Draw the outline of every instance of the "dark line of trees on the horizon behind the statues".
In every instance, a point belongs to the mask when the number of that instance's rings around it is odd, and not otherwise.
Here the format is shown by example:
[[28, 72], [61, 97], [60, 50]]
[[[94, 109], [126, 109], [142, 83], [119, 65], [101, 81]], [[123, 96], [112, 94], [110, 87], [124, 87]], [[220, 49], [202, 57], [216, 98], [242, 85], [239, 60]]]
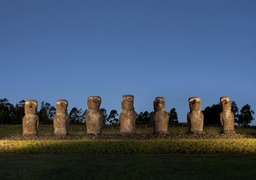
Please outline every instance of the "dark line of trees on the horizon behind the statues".
[[[231, 111], [235, 116], [235, 123], [243, 126], [247, 126], [254, 120], [252, 114], [254, 111], [250, 109], [250, 105], [244, 105], [239, 113], [239, 109], [234, 101], [231, 104]], [[38, 108], [39, 109], [39, 108]], [[109, 114], [105, 108], [100, 109], [104, 114], [104, 124], [119, 124], [119, 114], [116, 110], [111, 110]], [[211, 107], [207, 106], [202, 110], [204, 114], [204, 124], [220, 124], [220, 113], [222, 111], [221, 104], [213, 104]], [[69, 113], [70, 124], [85, 124], [85, 114], [88, 109], [83, 111], [73, 107]], [[152, 111], [153, 112], [153, 111]], [[150, 115], [152, 112], [140, 112], [137, 114], [136, 124], [150, 124]], [[169, 124], [178, 123], [178, 116], [175, 108], [172, 108], [169, 112]], [[39, 116], [40, 123], [53, 124], [53, 116], [56, 114], [56, 109], [51, 106], [50, 103], [41, 102], [40, 110], [36, 112]], [[1, 124], [22, 124], [22, 118], [25, 115], [25, 100], [21, 100], [19, 103], [9, 103], [7, 98], [0, 99], [0, 123]]]

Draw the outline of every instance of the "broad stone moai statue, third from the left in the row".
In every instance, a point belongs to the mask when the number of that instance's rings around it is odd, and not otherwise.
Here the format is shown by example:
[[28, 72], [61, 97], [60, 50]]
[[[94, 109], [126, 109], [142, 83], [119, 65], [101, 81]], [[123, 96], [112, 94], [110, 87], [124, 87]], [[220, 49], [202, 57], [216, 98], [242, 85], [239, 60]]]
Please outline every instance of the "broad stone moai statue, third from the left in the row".
[[101, 98], [90, 96], [87, 100], [89, 111], [85, 114], [87, 134], [101, 134], [104, 114], [100, 111]]

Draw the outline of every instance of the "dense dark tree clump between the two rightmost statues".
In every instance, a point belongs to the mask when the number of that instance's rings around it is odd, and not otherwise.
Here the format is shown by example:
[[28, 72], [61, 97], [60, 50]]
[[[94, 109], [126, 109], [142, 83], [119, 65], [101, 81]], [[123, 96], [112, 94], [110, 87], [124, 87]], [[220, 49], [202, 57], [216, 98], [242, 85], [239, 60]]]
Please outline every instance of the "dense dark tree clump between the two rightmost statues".
[[222, 111], [221, 104], [213, 104], [212, 107], [207, 106], [203, 110], [204, 124], [220, 124], [220, 113]]

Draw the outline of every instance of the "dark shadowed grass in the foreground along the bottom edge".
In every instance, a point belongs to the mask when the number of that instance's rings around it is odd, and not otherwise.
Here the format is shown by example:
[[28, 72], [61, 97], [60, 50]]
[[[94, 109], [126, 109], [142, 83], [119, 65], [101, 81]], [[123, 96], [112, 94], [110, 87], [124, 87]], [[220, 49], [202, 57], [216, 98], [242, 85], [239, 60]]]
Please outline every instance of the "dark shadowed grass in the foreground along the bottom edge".
[[255, 154], [0, 154], [0, 179], [255, 179]]

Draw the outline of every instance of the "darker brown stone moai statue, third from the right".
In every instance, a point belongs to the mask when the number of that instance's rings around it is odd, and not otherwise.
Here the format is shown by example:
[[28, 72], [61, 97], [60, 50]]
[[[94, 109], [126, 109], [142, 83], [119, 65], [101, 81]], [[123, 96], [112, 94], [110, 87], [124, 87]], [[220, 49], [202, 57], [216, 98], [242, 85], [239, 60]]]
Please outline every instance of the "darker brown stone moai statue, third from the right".
[[168, 134], [169, 114], [165, 111], [165, 101], [163, 97], [156, 97], [154, 101], [154, 112], [150, 115], [154, 134]]

